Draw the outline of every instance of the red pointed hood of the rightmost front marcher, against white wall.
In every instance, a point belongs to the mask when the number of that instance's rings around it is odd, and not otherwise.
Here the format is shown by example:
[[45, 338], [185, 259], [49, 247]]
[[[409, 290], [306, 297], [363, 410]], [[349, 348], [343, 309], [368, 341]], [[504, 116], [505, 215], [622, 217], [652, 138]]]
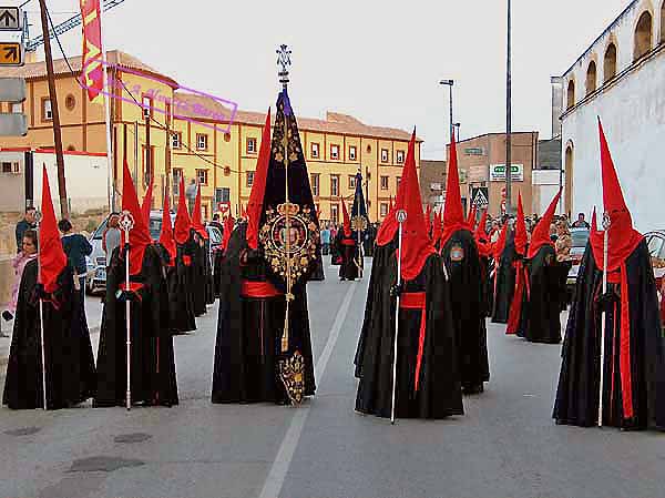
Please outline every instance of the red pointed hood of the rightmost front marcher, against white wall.
[[[612, 161], [610, 146], [605, 139], [603, 125], [598, 118], [598, 132], [601, 135], [601, 167], [603, 175], [603, 204], [605, 213], [610, 215], [610, 231], [607, 235], [607, 270], [613, 272], [635, 251], [637, 244], [644, 238], [633, 228], [633, 218], [624, 201], [621, 184], [616, 176], [616, 169]], [[591, 233], [593, 256], [601, 268], [603, 267], [604, 232]]]

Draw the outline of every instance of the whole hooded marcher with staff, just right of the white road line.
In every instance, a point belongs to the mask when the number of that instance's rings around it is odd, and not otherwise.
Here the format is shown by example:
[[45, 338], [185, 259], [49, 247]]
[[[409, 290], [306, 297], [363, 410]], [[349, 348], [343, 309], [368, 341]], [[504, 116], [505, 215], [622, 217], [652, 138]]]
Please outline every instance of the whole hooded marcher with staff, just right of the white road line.
[[[440, 256], [424, 230], [415, 162], [415, 134], [407, 153], [396, 207], [377, 237], [365, 322], [356, 352], [360, 379], [356, 410], [391, 417], [395, 319], [397, 339], [397, 418], [446, 418], [463, 414], [457, 369], [456, 332]], [[398, 210], [407, 212], [397, 286]]]

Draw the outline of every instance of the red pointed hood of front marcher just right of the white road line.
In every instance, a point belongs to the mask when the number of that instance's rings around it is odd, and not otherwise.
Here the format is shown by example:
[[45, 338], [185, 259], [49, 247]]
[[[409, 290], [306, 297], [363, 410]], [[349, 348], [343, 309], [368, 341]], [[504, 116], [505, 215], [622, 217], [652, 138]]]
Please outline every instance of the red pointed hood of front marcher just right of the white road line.
[[407, 212], [407, 221], [402, 224], [401, 277], [412, 281], [422, 271], [427, 258], [436, 252], [424, 228], [424, 214], [416, 171], [416, 130], [409, 142], [395, 209], [388, 213], [377, 236], [379, 246], [390, 243], [398, 234], [397, 212], [399, 210]]

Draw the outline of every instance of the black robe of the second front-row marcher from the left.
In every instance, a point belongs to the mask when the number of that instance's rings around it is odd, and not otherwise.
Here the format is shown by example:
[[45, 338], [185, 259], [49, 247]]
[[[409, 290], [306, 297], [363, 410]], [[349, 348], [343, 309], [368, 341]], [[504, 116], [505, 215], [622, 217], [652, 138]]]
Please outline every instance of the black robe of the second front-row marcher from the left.
[[[142, 284], [141, 301], [131, 302], [132, 404], [178, 404], [168, 292], [156, 246], [149, 245], [143, 266], [131, 282]], [[125, 281], [125, 257], [116, 248], [106, 275], [106, 301], [98, 353], [98, 394], [94, 407], [125, 406], [126, 326], [125, 303], [116, 292]]]

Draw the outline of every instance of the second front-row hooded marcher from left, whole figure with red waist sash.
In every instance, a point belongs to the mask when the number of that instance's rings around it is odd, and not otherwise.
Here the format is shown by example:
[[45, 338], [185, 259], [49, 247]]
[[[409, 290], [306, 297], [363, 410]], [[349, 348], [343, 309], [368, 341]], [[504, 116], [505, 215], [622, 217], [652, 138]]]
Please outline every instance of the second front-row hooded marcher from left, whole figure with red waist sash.
[[[129, 251], [113, 252], [106, 275], [106, 301], [98, 352], [98, 389], [93, 407], [125, 406], [127, 363], [131, 403], [144, 406], [178, 404], [168, 289], [162, 257], [139, 205], [132, 175], [124, 163], [122, 209], [134, 217]], [[182, 192], [182, 191], [181, 191]], [[126, 282], [129, 265], [130, 282]], [[129, 284], [129, 285], [127, 285]], [[130, 303], [127, 358], [126, 303]]]

